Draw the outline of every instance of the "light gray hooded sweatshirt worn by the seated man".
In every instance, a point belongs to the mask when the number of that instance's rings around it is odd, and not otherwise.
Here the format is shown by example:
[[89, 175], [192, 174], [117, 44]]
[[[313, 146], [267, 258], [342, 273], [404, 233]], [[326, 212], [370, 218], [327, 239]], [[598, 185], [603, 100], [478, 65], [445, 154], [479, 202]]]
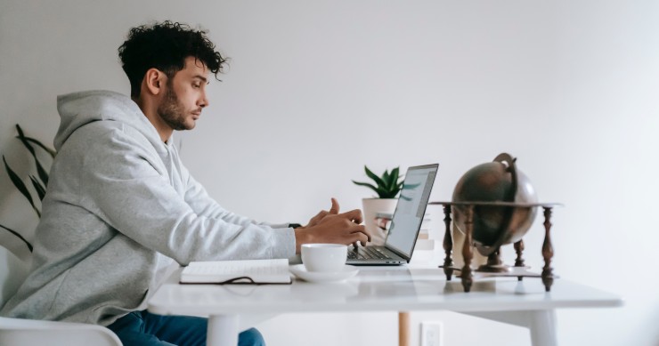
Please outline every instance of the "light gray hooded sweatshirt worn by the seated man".
[[119, 93], [58, 97], [61, 125], [28, 278], [1, 315], [108, 326], [191, 261], [290, 258], [293, 229], [224, 210]]

